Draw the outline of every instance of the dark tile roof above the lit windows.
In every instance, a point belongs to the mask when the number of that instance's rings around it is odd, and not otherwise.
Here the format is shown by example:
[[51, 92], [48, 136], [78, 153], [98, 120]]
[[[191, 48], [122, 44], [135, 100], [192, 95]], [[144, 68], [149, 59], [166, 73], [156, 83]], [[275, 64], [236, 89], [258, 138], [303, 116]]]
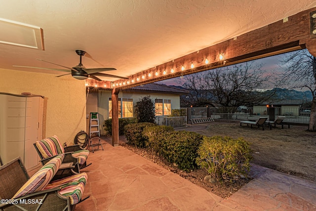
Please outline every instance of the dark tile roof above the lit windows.
[[189, 93], [186, 89], [176, 88], [173, 86], [168, 86], [164, 84], [144, 84], [142, 86], [135, 86], [128, 89], [125, 89], [124, 91], [145, 91], [145, 92], [168, 92], [173, 94], [187, 94]]

